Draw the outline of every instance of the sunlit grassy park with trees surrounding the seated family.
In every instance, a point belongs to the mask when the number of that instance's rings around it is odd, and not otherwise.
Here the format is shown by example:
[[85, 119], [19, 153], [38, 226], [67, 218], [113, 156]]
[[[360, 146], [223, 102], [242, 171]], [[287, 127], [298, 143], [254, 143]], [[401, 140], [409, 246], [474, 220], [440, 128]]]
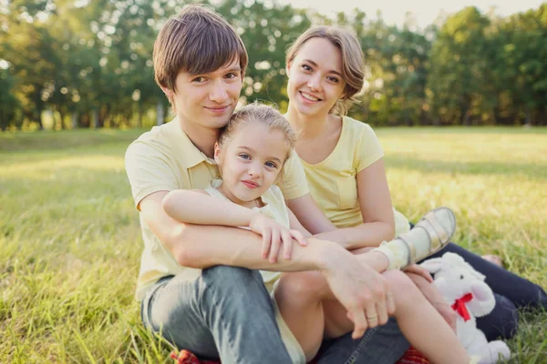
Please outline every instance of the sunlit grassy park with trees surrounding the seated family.
[[[151, 49], [183, 4], [0, 0], [1, 363], [170, 362], [133, 298], [142, 241], [123, 156], [170, 120]], [[213, 7], [249, 51], [242, 103], [282, 110], [286, 45], [311, 24], [352, 26], [367, 78], [351, 115], [375, 126], [397, 209], [416, 221], [452, 207], [454, 241], [547, 287], [547, 4], [465, 7], [428, 26]], [[545, 328], [547, 312], [521, 312], [509, 362], [547, 363]]]

